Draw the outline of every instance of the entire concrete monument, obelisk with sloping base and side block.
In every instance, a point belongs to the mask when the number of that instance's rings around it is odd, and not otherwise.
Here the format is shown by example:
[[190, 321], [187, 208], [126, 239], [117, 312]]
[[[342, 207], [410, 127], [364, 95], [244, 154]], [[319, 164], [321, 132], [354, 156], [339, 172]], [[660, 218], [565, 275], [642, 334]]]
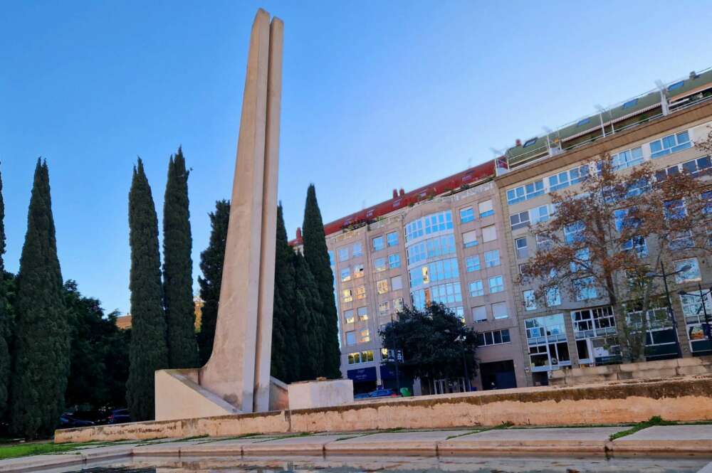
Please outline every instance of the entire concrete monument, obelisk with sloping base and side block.
[[199, 369], [156, 371], [156, 420], [353, 401], [350, 380], [270, 377], [284, 23], [252, 24], [213, 353]]

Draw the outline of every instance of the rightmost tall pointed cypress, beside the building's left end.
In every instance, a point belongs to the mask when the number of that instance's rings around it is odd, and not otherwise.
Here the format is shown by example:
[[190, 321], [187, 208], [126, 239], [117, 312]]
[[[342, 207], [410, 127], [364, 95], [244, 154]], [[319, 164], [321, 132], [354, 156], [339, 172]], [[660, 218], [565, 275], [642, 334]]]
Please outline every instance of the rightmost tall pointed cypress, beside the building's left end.
[[304, 258], [314, 276], [322, 303], [323, 327], [321, 330], [321, 343], [323, 346], [323, 368], [320, 376], [340, 378], [341, 356], [337, 325], [338, 316], [334, 299], [334, 275], [326, 248], [324, 223], [316, 200], [314, 184], [311, 184], [307, 190], [302, 235], [304, 238]]

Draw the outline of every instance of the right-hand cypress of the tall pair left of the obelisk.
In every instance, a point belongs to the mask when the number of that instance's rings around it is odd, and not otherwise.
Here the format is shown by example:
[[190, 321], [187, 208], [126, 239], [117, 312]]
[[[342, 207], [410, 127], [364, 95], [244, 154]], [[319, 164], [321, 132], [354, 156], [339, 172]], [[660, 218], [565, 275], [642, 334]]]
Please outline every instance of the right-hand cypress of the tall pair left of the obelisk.
[[168, 163], [163, 204], [163, 304], [171, 368], [195, 368], [199, 362], [190, 257], [193, 239], [188, 208], [188, 174], [183, 151], [178, 148]]

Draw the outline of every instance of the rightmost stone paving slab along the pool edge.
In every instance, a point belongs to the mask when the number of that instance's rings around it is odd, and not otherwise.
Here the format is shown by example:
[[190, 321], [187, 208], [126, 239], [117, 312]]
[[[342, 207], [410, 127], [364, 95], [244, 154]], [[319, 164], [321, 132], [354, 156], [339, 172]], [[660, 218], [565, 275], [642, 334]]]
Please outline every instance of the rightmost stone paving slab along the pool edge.
[[708, 453], [712, 425], [656, 425], [611, 442], [614, 452]]

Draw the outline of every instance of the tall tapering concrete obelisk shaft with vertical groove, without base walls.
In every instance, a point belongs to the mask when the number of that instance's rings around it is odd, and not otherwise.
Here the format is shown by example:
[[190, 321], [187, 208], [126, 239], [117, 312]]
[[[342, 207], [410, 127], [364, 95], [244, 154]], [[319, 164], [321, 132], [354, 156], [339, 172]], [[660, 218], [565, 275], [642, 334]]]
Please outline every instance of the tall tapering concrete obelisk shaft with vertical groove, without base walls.
[[283, 22], [252, 25], [213, 353], [199, 384], [244, 413], [269, 407]]

